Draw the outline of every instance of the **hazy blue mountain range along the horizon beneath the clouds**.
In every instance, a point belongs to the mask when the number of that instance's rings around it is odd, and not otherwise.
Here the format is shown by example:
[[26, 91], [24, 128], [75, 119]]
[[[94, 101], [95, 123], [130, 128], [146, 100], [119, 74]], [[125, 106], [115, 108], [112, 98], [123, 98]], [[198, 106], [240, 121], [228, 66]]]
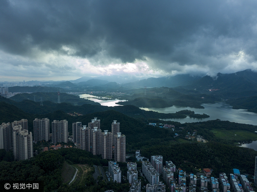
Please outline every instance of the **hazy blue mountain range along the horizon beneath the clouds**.
[[[102, 76], [104, 78], [106, 76]], [[111, 76], [108, 76], [111, 77]], [[120, 78], [120, 76], [115, 76]], [[80, 78], [82, 79], [82, 78]], [[79, 80], [79, 79], [78, 79]], [[76, 80], [75, 80], [76, 81]], [[252, 96], [257, 92], [257, 73], [252, 70], [238, 71], [231, 74], [222, 74], [217, 73], [215, 77], [211, 76], [191, 76], [186, 75], [176, 75], [176, 76], [167, 76], [167, 77], [158, 77], [158, 78], [147, 78], [136, 80], [134, 82], [128, 83], [117, 83], [116, 81], [108, 81], [101, 79], [89, 79], [87, 81], [82, 81], [75, 83], [75, 81], [64, 81], [64, 82], [53, 82], [45, 86], [49, 87], [59, 87], [69, 90], [79, 90], [83, 91], [88, 88], [94, 90], [108, 90], [112, 91], [122, 91], [136, 88], [144, 87], [170, 87], [186, 90], [197, 90], [202, 93], [210, 92], [210, 90], [218, 92], [252, 92], [249, 96]], [[10, 87], [10, 91], [15, 92], [14, 88]], [[42, 89], [37, 89], [37, 91], [42, 91]], [[17, 92], [19, 92], [17, 90]], [[32, 91], [34, 92], [34, 91]]]

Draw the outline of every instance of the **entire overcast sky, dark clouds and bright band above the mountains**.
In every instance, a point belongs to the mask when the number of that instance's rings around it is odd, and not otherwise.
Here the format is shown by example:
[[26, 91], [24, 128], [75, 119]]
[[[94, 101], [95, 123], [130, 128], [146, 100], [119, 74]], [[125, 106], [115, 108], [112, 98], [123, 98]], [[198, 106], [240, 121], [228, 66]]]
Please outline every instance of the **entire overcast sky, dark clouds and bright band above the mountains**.
[[257, 70], [257, 1], [0, 1], [0, 80]]

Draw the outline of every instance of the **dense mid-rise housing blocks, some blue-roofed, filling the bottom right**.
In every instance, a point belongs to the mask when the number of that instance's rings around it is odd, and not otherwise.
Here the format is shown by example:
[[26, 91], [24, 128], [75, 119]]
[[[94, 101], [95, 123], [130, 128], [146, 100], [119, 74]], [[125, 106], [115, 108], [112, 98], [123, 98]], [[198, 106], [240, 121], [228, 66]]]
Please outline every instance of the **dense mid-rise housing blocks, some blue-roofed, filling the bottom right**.
[[[139, 151], [136, 151], [136, 155], [139, 156], [139, 153]], [[220, 173], [219, 179], [214, 177], [207, 179], [207, 176], [211, 174], [211, 169], [205, 169], [204, 173], [206, 176], [201, 175], [199, 178], [194, 174], [186, 176], [186, 172], [178, 168], [178, 180], [176, 181], [176, 178], [174, 179], [176, 166], [171, 161], [166, 161], [165, 166], [162, 166], [162, 162], [161, 155], [151, 156], [151, 162], [142, 162], [142, 173], [149, 182], [146, 185], [146, 192], [165, 191], [165, 185], [159, 182], [160, 174], [162, 174], [162, 178], [171, 192], [196, 192], [196, 187], [199, 187], [201, 192], [208, 192], [208, 182], [210, 182], [212, 192], [253, 192], [248, 179], [245, 175], [240, 175], [238, 169], [233, 169], [234, 174], [230, 174], [230, 179], [228, 179], [225, 173]], [[189, 179], [189, 182], [187, 182], [188, 186], [186, 186], [186, 179]], [[200, 180], [200, 186], [197, 186], [197, 180]]]

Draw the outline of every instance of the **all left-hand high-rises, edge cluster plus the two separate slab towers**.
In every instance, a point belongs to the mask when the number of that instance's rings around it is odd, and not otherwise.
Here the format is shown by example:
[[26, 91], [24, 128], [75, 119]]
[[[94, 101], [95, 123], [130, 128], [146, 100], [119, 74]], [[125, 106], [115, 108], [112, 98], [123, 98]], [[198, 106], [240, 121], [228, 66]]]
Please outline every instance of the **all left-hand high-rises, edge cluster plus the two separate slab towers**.
[[[14, 159], [26, 160], [33, 157], [33, 142], [49, 141], [49, 119], [35, 119], [33, 121], [34, 135], [28, 131], [28, 120], [21, 119], [12, 123], [2, 123], [0, 126], [0, 148], [13, 150]], [[68, 121], [52, 122], [53, 142], [68, 141]], [[37, 151], [36, 151], [37, 154]]]

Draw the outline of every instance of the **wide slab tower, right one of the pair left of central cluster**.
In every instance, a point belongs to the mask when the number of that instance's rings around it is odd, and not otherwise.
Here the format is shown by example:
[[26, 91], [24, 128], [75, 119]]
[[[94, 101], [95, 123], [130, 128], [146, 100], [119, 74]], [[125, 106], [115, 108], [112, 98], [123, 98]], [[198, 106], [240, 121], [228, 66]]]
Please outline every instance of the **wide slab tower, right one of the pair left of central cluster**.
[[68, 121], [61, 120], [52, 122], [52, 140], [53, 143], [68, 143]]

